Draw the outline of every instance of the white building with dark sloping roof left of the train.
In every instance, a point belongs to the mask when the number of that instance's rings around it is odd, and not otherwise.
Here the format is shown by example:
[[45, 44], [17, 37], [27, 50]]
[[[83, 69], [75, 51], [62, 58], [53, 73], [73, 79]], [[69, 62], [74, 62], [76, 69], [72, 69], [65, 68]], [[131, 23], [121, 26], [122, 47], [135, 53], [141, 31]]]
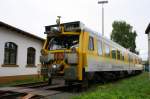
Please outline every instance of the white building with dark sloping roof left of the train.
[[37, 76], [44, 39], [0, 21], [0, 83]]

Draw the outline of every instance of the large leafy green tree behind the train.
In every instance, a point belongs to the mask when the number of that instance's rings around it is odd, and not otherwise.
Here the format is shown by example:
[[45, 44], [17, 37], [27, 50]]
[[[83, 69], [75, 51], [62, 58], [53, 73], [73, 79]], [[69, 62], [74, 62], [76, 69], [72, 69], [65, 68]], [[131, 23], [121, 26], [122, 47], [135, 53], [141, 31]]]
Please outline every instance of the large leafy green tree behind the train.
[[114, 21], [112, 27], [111, 40], [138, 54], [135, 43], [137, 33], [132, 31], [132, 26], [125, 21]]

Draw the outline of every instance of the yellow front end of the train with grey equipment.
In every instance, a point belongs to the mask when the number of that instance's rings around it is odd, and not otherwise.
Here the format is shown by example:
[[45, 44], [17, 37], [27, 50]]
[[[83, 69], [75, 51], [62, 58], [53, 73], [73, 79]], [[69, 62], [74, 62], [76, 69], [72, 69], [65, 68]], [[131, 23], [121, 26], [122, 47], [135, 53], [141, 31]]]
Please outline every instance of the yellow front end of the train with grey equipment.
[[83, 24], [80, 21], [45, 27], [47, 39], [41, 50], [42, 75], [50, 80], [82, 80]]

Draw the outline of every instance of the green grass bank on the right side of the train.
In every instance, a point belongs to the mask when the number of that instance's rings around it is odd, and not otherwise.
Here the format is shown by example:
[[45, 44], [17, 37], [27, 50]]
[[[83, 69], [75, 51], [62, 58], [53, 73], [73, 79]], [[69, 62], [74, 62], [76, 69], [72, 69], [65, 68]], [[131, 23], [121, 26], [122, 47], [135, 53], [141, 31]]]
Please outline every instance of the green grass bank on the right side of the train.
[[73, 99], [150, 99], [150, 74], [144, 72], [116, 82], [95, 85]]

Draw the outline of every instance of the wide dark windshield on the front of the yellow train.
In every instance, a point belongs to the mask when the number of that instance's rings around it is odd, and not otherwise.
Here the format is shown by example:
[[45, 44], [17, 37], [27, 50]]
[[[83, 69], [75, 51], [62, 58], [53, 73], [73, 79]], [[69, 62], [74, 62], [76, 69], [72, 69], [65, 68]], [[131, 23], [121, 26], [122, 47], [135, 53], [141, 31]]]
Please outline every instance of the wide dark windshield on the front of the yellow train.
[[63, 50], [79, 46], [79, 35], [54, 36], [48, 42], [48, 50]]

